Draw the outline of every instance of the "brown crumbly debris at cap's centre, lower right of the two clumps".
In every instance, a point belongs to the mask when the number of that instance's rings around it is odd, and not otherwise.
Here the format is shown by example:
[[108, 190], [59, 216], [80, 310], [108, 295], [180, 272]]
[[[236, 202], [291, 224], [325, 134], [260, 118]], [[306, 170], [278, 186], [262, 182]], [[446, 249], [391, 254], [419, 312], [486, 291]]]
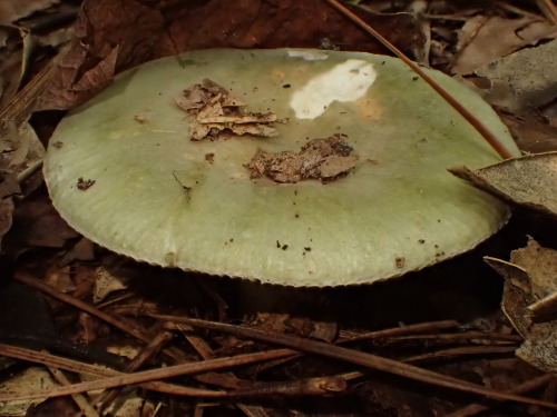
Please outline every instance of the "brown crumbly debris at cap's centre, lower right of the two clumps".
[[300, 152], [265, 152], [258, 149], [245, 167], [252, 178], [267, 177], [275, 182], [299, 182], [303, 179], [321, 179], [330, 182], [355, 166], [356, 156], [350, 156], [352, 147], [340, 135], [309, 141]]

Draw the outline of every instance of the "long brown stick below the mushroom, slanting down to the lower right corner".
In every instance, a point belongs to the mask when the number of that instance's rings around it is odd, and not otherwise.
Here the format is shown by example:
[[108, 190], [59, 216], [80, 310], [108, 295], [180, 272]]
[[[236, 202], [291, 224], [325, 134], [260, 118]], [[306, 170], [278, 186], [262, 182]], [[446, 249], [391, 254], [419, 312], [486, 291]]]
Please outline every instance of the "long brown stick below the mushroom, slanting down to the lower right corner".
[[263, 340], [271, 344], [277, 344], [290, 347], [295, 350], [301, 350], [310, 354], [316, 354], [334, 359], [340, 359], [343, 361], [398, 375], [404, 378], [414, 379], [431, 385], [437, 385], [444, 388], [452, 388], [465, 393], [479, 394], [499, 400], [534, 404], [543, 407], [557, 409], [557, 404], [555, 403], [541, 401], [538, 399], [499, 393], [466, 380], [452, 378], [442, 374], [433, 373], [431, 370], [418, 368], [416, 366], [403, 364], [393, 359], [388, 359], [358, 350], [346, 349], [340, 346], [328, 345], [321, 341], [307, 340], [301, 337], [267, 332], [247, 327], [225, 325], [221, 322], [193, 319], [186, 317], [172, 317], [172, 316], [158, 316], [158, 315], [149, 315], [149, 316], [158, 319], [164, 319], [167, 321], [183, 322], [195, 327], [224, 331], [233, 334], [235, 336]]

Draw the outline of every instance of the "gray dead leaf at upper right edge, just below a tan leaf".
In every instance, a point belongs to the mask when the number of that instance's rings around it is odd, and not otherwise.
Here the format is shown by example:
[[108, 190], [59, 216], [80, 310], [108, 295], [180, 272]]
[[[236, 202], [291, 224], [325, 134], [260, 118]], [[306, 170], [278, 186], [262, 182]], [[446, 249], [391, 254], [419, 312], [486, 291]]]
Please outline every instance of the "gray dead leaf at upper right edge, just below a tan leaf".
[[481, 66], [478, 76], [489, 80], [481, 95], [491, 105], [522, 115], [557, 97], [557, 39], [522, 49]]

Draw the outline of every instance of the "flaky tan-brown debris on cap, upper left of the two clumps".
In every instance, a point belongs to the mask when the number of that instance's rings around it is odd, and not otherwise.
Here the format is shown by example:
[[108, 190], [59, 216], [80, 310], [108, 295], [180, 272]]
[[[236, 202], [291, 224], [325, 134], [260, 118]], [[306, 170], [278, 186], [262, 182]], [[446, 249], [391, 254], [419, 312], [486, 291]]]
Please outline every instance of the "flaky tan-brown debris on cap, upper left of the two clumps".
[[237, 136], [276, 136], [277, 131], [270, 123], [282, 121], [273, 112], [245, 112], [242, 109], [247, 106], [245, 101], [209, 79], [184, 90], [184, 96], [174, 100], [186, 112], [196, 115], [192, 126], [192, 140], [218, 137], [225, 130]]

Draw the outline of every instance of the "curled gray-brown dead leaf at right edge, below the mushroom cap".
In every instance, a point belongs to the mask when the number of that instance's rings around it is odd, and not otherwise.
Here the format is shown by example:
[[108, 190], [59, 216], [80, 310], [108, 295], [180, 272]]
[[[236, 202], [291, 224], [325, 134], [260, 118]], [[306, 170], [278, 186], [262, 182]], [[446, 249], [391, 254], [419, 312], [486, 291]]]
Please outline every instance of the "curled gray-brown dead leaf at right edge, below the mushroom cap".
[[[525, 338], [516, 355], [547, 373], [557, 373], [557, 319], [536, 321], [531, 307], [557, 294], [557, 250], [544, 248], [534, 239], [511, 254], [510, 262], [486, 258], [505, 278], [502, 310]], [[549, 307], [555, 314], [556, 305]]]

